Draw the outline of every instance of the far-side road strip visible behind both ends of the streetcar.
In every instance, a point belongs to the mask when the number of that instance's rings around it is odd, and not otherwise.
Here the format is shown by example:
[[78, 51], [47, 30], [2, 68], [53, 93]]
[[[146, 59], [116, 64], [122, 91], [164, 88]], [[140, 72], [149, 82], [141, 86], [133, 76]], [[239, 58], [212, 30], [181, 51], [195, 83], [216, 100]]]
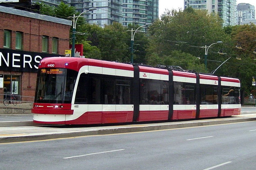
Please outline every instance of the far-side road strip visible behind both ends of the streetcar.
[[[256, 113], [256, 107], [242, 107], [241, 114]], [[32, 121], [33, 114], [0, 114], [0, 121]]]

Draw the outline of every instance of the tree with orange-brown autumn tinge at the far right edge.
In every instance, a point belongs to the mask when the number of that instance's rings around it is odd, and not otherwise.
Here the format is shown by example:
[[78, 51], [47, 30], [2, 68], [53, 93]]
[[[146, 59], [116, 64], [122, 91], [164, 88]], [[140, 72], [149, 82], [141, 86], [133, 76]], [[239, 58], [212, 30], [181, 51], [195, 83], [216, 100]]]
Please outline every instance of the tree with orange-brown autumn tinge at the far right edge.
[[[252, 76], [256, 72], [256, 26], [254, 24], [235, 25], [224, 28], [232, 40], [229, 48], [232, 52], [232, 60], [227, 62], [226, 70], [219, 74], [228, 74], [238, 77], [241, 87], [246, 94], [252, 92]], [[237, 60], [239, 59], [239, 60]]]

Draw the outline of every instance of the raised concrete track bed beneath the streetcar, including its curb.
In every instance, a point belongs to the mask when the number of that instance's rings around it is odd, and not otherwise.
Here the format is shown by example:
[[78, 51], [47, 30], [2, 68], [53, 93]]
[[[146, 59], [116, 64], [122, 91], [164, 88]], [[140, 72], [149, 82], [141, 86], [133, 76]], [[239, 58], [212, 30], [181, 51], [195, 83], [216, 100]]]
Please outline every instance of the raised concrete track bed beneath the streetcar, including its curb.
[[86, 126], [19, 126], [19, 127], [0, 127], [0, 143], [47, 140], [58, 138], [69, 138], [90, 135], [107, 135], [128, 132], [152, 131], [175, 129], [196, 126], [208, 126], [238, 123], [245, 121], [256, 121], [256, 113], [243, 114], [228, 118], [212, 118], [190, 121], [172, 121], [165, 123], [149, 124], [126, 124], [126, 125], [86, 125]]

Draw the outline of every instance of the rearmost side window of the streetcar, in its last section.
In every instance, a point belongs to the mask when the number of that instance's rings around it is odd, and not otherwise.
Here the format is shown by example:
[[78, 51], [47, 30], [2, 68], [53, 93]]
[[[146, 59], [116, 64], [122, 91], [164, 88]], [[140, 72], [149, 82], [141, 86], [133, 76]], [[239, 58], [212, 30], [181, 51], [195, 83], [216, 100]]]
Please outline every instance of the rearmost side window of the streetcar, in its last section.
[[240, 88], [221, 86], [221, 104], [241, 104]]

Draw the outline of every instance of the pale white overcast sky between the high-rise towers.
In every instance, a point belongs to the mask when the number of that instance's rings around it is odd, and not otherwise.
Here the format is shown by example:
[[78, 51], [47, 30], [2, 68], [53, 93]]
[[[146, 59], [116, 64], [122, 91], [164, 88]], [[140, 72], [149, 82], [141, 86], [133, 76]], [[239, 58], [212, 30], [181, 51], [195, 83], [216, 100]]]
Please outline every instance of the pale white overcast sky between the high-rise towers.
[[[256, 0], [237, 0], [238, 3], [249, 3], [256, 9]], [[184, 0], [159, 0], [159, 16], [161, 16], [165, 9], [184, 9]]]

